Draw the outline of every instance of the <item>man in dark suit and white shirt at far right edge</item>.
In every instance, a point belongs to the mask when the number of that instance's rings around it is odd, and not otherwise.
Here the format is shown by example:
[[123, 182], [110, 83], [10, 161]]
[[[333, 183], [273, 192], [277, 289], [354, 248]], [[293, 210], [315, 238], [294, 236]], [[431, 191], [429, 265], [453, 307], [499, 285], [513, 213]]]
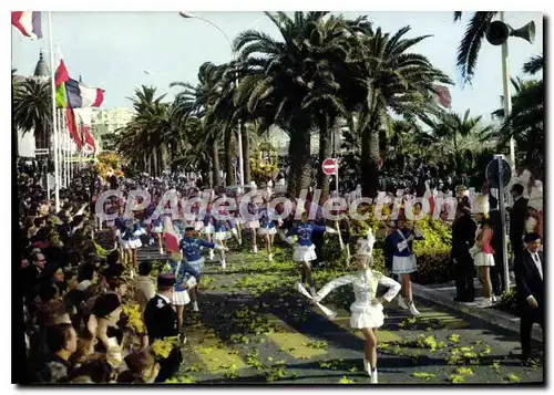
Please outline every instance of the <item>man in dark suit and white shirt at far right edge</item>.
[[536, 322], [544, 332], [544, 259], [541, 237], [537, 233], [525, 236], [526, 245], [515, 260], [515, 283], [520, 306], [520, 340], [523, 360], [531, 357], [531, 331]]

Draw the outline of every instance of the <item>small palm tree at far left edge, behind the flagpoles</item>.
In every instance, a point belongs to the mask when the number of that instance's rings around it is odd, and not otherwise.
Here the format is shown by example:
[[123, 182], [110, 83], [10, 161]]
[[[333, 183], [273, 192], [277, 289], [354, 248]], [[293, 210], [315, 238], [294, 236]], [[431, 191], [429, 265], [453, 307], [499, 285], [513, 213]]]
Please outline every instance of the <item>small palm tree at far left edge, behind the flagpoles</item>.
[[23, 133], [34, 133], [38, 149], [50, 148], [51, 92], [47, 79], [25, 79], [13, 87], [14, 125]]

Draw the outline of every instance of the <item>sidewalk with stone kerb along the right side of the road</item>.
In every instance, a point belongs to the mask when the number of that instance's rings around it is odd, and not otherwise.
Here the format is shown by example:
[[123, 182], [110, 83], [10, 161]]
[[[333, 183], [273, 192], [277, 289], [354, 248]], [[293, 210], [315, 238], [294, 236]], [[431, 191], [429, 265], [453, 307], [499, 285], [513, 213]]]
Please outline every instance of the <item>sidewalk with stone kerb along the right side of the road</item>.
[[[482, 287], [476, 279], [474, 281], [476, 297], [482, 294]], [[495, 325], [511, 332], [520, 333], [520, 318], [493, 308], [478, 308], [476, 304], [483, 298], [475, 298], [475, 302], [473, 303], [454, 302], [454, 297], [456, 295], [456, 293], [453, 281], [449, 283], [432, 285], [420, 285], [412, 282], [412, 292], [416, 298], [421, 298], [433, 303], [442, 304], [447, 308], [454, 309], [468, 315], [483, 320], [491, 325]], [[541, 343], [543, 342], [543, 331], [541, 330], [541, 326], [533, 325], [532, 337]]]

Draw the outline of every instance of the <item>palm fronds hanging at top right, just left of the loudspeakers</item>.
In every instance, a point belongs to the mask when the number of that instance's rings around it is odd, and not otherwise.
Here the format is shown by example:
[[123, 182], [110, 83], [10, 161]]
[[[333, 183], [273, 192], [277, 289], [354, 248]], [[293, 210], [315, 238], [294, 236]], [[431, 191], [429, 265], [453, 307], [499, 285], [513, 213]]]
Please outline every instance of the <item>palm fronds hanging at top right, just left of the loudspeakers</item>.
[[[465, 82], [471, 82], [478, 64], [481, 43], [486, 35], [486, 31], [499, 11], [474, 12], [465, 29], [465, 33], [458, 48], [458, 69]], [[454, 12], [454, 22], [461, 21], [462, 12]]]

